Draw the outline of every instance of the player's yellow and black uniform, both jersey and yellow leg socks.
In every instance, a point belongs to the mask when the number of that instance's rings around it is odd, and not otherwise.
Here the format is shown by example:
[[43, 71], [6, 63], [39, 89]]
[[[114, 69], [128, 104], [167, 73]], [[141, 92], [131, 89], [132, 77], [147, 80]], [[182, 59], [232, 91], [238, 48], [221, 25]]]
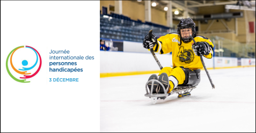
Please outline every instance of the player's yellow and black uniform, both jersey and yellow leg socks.
[[[214, 45], [210, 41], [210, 39], [204, 36], [196, 36], [194, 40], [196, 42], [208, 42], [211, 48], [211, 53], [209, 55], [204, 55], [204, 57], [213, 57]], [[184, 43], [183, 41], [180, 41], [181, 39], [177, 33], [169, 33], [157, 39], [158, 43], [156, 43], [156, 45], [153, 47], [155, 53], [158, 54], [167, 54], [172, 52], [173, 68], [165, 67], [159, 73], [160, 75], [161, 73], [165, 72], [169, 77], [171, 76], [171, 78], [175, 78], [178, 80], [178, 83], [173, 83], [170, 81], [171, 89], [169, 90], [169, 92], [171, 92], [174, 86], [184, 83], [186, 76], [184, 70], [182, 70], [180, 67], [188, 68], [191, 70], [203, 68], [200, 56], [196, 56], [192, 49], [192, 45], [194, 44], [194, 42], [191, 41], [188, 43]]]

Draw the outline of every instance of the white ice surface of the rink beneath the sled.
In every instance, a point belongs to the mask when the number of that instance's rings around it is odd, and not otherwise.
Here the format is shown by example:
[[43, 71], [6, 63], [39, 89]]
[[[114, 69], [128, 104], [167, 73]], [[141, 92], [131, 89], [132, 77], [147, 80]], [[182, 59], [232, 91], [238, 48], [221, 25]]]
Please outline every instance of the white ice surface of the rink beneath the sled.
[[100, 131], [255, 132], [255, 67], [208, 71], [214, 90], [201, 71], [191, 97], [155, 105], [144, 97], [151, 74], [100, 78]]

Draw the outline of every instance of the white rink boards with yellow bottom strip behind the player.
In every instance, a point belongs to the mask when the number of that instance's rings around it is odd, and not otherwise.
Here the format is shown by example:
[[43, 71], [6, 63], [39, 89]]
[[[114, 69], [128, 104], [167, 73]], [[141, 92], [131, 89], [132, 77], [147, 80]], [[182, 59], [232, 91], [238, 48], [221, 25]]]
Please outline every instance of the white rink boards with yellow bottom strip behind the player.
[[[124, 47], [124, 50], [126, 48]], [[127, 50], [127, 49], [126, 49]], [[147, 49], [146, 49], [147, 50]], [[172, 66], [172, 55], [156, 56], [163, 67]], [[203, 58], [208, 69], [236, 68], [243, 66], [255, 66], [255, 58], [235, 58], [235, 57], [213, 57]], [[123, 51], [100, 51], [100, 77], [137, 75], [147, 73], [158, 73], [159, 67], [148, 53], [123, 52]]]

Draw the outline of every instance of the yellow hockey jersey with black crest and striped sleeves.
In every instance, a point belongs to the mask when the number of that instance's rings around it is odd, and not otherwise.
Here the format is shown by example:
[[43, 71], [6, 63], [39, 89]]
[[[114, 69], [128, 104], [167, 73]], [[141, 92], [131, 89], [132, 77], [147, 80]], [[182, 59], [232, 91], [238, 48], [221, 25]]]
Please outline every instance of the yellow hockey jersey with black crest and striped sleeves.
[[[204, 36], [196, 36], [194, 40], [196, 42], [208, 42], [211, 48], [211, 53], [209, 55], [204, 55], [204, 57], [213, 57], [214, 45], [210, 39]], [[202, 69], [203, 65], [201, 58], [200, 56], [196, 56], [192, 49], [192, 45], [194, 44], [193, 40], [188, 43], [180, 41], [181, 40], [177, 33], [169, 33], [157, 39], [158, 43], [153, 47], [153, 50], [158, 54], [167, 54], [172, 52], [172, 65], [174, 67], [182, 66], [193, 70]]]

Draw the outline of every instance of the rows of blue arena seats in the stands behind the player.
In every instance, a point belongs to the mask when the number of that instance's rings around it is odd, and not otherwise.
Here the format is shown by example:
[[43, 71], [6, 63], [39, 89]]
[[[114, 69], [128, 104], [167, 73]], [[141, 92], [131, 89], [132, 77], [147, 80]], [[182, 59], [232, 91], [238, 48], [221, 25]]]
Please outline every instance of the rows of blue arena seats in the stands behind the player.
[[142, 23], [141, 20], [131, 20], [126, 16], [115, 13], [100, 15], [101, 39], [142, 42], [150, 29], [153, 29], [153, 34], [157, 38], [170, 32], [176, 32], [175, 29], [170, 27], [149, 22]]

